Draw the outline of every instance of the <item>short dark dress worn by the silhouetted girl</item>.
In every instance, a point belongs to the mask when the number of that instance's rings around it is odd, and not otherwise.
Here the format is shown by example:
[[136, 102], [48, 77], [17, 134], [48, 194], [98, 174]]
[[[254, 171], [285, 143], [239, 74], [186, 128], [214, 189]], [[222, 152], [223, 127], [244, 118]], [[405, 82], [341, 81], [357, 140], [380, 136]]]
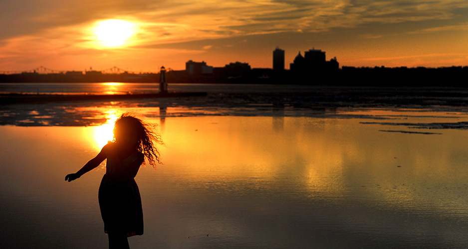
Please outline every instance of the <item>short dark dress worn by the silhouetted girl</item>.
[[143, 210], [140, 191], [135, 179], [129, 173], [132, 163], [138, 166], [144, 160], [143, 154], [135, 152], [125, 159], [118, 153], [106, 153], [106, 174], [99, 186], [99, 207], [104, 221], [105, 233], [125, 233], [127, 237], [143, 234]]

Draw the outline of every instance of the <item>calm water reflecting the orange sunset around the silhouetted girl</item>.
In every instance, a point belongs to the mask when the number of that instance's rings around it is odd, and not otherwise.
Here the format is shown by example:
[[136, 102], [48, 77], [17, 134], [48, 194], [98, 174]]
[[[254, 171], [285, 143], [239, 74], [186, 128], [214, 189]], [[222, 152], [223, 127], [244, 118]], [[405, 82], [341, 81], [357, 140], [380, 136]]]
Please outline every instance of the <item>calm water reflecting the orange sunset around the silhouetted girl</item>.
[[[250, 91], [262, 87], [275, 91]], [[69, 92], [90, 92], [81, 90]], [[467, 248], [468, 114], [460, 109], [157, 104], [21, 107], [49, 110], [35, 119], [2, 107], [1, 248], [107, 247], [97, 203], [105, 166], [64, 177], [135, 109], [159, 125], [166, 145], [164, 165], [135, 178], [145, 234], [130, 238], [131, 248]], [[39, 125], [57, 118], [100, 121]]]

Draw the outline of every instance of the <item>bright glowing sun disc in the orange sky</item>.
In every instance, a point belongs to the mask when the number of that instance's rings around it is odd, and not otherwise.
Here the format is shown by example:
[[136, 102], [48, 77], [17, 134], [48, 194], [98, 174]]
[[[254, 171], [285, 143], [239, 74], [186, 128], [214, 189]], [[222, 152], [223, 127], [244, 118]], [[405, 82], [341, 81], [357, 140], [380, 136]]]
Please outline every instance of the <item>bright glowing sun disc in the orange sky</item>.
[[104, 47], [124, 46], [135, 35], [136, 31], [137, 25], [118, 19], [99, 21], [94, 28], [96, 40]]

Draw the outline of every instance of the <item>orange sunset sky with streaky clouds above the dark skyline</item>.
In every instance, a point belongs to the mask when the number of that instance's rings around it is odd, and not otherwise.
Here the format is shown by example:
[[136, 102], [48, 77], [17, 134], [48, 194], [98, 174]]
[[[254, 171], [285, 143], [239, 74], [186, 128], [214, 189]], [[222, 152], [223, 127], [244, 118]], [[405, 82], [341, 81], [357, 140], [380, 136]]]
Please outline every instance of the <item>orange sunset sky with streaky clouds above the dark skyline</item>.
[[[111, 21], [109, 21], [111, 20]], [[0, 0], [0, 73], [271, 68], [315, 48], [340, 66], [468, 65], [467, 0]]]

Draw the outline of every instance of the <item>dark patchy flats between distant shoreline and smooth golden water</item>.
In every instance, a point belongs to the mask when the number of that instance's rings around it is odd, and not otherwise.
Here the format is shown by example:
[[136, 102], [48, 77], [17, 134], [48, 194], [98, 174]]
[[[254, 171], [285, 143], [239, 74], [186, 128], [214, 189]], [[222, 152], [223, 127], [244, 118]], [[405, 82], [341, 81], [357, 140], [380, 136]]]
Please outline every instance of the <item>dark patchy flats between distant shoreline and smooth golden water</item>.
[[[246, 87], [243, 85], [239, 87]], [[185, 86], [187, 87], [187, 86]], [[189, 86], [191, 87], [191, 86]], [[8, 104], [0, 106], [0, 125], [81, 126], [106, 123], [109, 108], [147, 110], [156, 117], [248, 116], [248, 117], [344, 117], [353, 109], [418, 109], [446, 113], [468, 112], [468, 90], [459, 88], [364, 88], [364, 87], [275, 87], [251, 86], [227, 92], [224, 86], [191, 90], [208, 92], [206, 97], [144, 99], [99, 99], [60, 103]], [[190, 88], [189, 88], [190, 89]], [[178, 89], [180, 90], [180, 89]], [[235, 90], [235, 89], [234, 89]], [[204, 92], [202, 91], [202, 93]], [[233, 93], [234, 92], [234, 93]], [[110, 96], [110, 95], [108, 95]], [[355, 114], [349, 117], [357, 117]], [[378, 117], [369, 117], [378, 119]], [[387, 122], [388, 123], [388, 122]], [[398, 124], [403, 125], [403, 124]], [[442, 125], [442, 126], [441, 126]], [[426, 128], [465, 128], [466, 124], [408, 124]]]

